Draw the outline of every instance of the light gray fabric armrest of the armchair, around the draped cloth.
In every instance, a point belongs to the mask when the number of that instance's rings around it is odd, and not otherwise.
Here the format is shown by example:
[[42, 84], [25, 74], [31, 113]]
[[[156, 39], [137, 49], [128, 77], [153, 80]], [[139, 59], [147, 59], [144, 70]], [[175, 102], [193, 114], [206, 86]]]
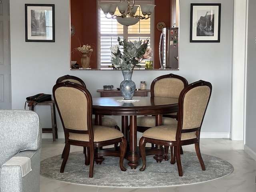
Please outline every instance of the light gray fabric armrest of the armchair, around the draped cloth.
[[28, 157], [31, 160], [32, 171], [22, 177], [22, 168], [19, 165], [2, 165], [0, 169], [1, 192], [39, 192], [40, 182], [40, 153], [38, 150], [25, 150], [15, 157]]

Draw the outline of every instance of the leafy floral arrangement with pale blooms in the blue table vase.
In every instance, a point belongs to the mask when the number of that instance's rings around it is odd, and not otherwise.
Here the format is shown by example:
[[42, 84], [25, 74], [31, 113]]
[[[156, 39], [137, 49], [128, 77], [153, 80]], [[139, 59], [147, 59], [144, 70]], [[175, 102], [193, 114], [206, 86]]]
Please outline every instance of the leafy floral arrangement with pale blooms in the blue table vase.
[[[118, 45], [110, 47], [112, 67], [122, 70], [133, 70], [134, 67], [140, 68], [139, 64], [144, 59], [150, 59], [153, 55], [152, 49], [148, 48], [148, 41], [121, 41], [117, 38]], [[120, 46], [123, 46], [123, 53], [120, 51]]]

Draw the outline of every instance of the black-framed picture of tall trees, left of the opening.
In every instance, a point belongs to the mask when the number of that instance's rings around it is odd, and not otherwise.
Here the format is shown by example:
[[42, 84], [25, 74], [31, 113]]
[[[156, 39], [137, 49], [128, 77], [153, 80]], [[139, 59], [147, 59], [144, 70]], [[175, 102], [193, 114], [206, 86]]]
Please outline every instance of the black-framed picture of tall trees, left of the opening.
[[55, 42], [54, 4], [25, 4], [26, 42]]

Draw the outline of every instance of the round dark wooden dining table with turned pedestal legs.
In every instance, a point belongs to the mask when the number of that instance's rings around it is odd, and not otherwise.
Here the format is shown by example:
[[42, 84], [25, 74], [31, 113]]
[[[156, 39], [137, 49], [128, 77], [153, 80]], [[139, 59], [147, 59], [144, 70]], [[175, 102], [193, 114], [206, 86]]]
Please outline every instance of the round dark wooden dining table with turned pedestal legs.
[[[133, 97], [133, 102], [122, 101], [122, 97], [98, 97], [92, 98], [92, 113], [95, 115], [96, 124], [101, 125], [101, 117], [104, 115], [122, 116], [122, 132], [128, 141], [127, 160], [132, 169], [138, 166], [140, 155], [137, 150], [137, 116], [156, 116], [156, 126], [162, 124], [162, 114], [178, 111], [178, 99], [166, 97]], [[130, 126], [128, 126], [128, 116]], [[102, 150], [99, 154], [108, 156], [111, 151]], [[154, 151], [151, 152], [154, 154]], [[103, 158], [103, 157], [102, 157]], [[161, 162], [163, 156], [154, 157]], [[159, 158], [159, 159], [158, 159]], [[98, 162], [104, 160], [98, 157]], [[97, 162], [97, 160], [96, 160]]]

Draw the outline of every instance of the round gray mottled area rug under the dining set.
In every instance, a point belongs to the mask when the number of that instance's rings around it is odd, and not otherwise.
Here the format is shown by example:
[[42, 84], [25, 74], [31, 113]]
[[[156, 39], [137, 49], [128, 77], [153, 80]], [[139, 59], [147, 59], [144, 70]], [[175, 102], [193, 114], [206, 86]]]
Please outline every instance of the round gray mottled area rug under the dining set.
[[177, 186], [215, 180], [233, 172], [233, 166], [220, 158], [202, 154], [205, 171], [202, 171], [195, 152], [184, 151], [181, 155], [183, 176], [178, 175], [177, 164], [169, 161], [157, 163], [153, 156], [147, 156], [146, 170], [140, 171], [139, 166], [132, 170], [128, 160], [124, 160], [125, 172], [120, 170], [118, 157], [104, 157], [102, 164], [94, 163], [93, 178], [89, 178], [89, 166], [84, 164], [83, 152], [72, 152], [64, 173], [60, 173], [61, 155], [53, 156], [41, 161], [40, 174], [46, 178], [92, 186], [116, 187], [153, 187]]

